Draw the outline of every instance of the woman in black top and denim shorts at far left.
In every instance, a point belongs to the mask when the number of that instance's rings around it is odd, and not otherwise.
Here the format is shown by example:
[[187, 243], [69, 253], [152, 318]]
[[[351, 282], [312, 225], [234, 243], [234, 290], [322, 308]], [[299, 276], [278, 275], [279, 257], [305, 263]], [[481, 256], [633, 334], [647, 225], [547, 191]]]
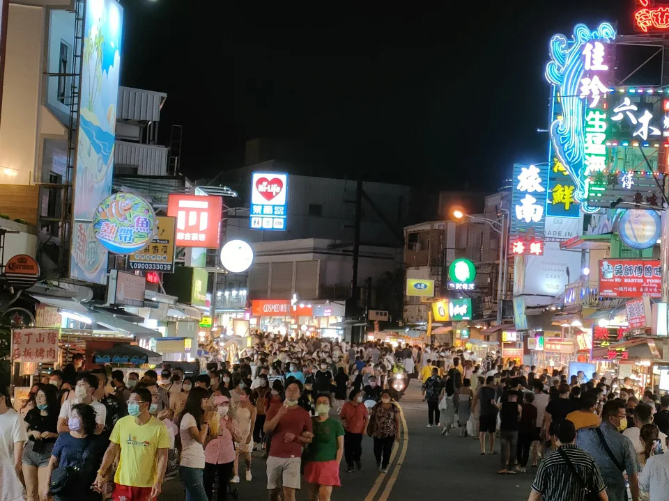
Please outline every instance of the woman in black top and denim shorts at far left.
[[[40, 483], [44, 482], [51, 452], [58, 438], [58, 390], [42, 385], [35, 395], [36, 407], [26, 414], [28, 441], [23, 450], [23, 477], [28, 501], [38, 501]], [[43, 482], [39, 482], [39, 480]]]

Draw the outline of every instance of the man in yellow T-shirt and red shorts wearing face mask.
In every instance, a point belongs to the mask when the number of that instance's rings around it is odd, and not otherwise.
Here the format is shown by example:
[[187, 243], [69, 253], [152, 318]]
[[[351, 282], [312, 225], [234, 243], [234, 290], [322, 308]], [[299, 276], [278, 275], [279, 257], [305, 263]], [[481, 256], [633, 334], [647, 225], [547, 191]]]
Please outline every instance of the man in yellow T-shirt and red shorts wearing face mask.
[[148, 413], [149, 406], [151, 392], [146, 388], [135, 388], [128, 398], [129, 415], [116, 422], [109, 437], [109, 447], [93, 486], [102, 488], [105, 474], [120, 450], [113, 499], [146, 501], [157, 498], [162, 491], [169, 436], [167, 427]]

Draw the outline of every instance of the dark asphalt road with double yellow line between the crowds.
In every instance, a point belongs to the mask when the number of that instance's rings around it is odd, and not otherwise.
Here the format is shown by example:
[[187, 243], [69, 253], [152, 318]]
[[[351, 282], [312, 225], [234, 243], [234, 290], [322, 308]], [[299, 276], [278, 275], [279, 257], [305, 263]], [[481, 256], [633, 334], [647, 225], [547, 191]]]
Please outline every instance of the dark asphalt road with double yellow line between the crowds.
[[[394, 447], [388, 472], [377, 472], [372, 440], [365, 436], [362, 470], [346, 473], [342, 461], [341, 487], [334, 489], [333, 501], [413, 501], [425, 496], [430, 500], [458, 501], [528, 499], [535, 470], [526, 474], [497, 475], [500, 456], [480, 456], [478, 440], [463, 438], [457, 432], [443, 437], [440, 429], [426, 428], [427, 406], [421, 401], [415, 380], [399, 404], [403, 410], [403, 433], [400, 443]], [[500, 449], [498, 442], [495, 449]], [[240, 500], [268, 500], [265, 461], [260, 453], [256, 454], [252, 481], [242, 478], [238, 484]], [[185, 499], [178, 477], [165, 482], [163, 491], [163, 501]], [[307, 500], [304, 485], [298, 500]]]

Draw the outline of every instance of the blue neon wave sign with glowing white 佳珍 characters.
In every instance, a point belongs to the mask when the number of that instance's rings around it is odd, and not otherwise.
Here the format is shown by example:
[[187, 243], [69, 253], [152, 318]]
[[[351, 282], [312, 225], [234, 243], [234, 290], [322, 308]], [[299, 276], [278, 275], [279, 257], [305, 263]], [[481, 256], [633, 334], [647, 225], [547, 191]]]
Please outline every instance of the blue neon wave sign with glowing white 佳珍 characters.
[[551, 145], [557, 161], [574, 180], [575, 202], [591, 214], [597, 209], [584, 203], [587, 175], [601, 172], [606, 165], [606, 97], [610, 93], [606, 56], [613, 39], [615, 29], [610, 23], [600, 24], [595, 31], [576, 24], [569, 39], [553, 35], [545, 72], [562, 106], [561, 115], [549, 127]]

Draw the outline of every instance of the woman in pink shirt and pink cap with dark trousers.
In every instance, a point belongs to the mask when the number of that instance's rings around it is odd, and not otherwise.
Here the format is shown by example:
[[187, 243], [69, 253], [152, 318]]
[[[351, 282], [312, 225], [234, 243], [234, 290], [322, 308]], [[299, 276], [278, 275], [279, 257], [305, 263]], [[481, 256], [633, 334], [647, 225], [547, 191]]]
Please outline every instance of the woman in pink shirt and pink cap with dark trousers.
[[214, 479], [218, 474], [217, 501], [225, 501], [235, 461], [234, 443], [240, 442], [241, 438], [236, 433], [235, 424], [229, 413], [230, 399], [224, 395], [213, 398], [220, 421], [217, 435], [207, 440], [204, 450], [204, 490], [209, 500], [214, 501]]

